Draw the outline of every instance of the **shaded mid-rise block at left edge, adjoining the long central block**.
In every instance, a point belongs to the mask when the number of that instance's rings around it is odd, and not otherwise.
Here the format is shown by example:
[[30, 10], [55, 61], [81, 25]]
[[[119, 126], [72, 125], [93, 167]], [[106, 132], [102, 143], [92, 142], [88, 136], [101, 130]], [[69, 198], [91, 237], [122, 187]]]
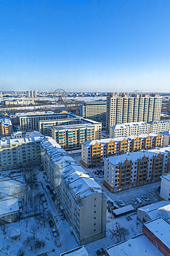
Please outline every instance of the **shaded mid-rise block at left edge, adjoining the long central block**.
[[15, 132], [0, 140], [0, 170], [41, 163], [39, 141], [42, 134]]

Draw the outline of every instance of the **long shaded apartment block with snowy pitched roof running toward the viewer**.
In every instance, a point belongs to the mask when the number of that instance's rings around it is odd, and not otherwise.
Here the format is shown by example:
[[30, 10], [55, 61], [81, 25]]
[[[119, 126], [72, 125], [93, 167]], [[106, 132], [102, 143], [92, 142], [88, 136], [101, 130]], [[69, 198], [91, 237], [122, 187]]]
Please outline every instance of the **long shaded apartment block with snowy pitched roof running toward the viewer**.
[[41, 164], [78, 245], [102, 239], [106, 235], [107, 207], [103, 188], [55, 143], [51, 138], [41, 141]]

